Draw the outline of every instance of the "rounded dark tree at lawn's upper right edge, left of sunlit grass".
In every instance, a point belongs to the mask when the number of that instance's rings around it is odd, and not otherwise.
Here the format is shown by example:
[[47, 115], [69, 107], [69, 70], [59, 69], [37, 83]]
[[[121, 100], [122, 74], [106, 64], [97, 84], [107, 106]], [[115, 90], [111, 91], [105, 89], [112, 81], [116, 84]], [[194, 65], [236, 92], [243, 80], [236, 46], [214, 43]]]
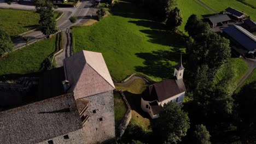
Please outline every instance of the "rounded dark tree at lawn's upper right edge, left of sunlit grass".
[[178, 26], [181, 26], [181, 24], [182, 24], [181, 10], [176, 7], [173, 10], [171, 10], [170, 14], [168, 15], [166, 26], [172, 31], [176, 31]]

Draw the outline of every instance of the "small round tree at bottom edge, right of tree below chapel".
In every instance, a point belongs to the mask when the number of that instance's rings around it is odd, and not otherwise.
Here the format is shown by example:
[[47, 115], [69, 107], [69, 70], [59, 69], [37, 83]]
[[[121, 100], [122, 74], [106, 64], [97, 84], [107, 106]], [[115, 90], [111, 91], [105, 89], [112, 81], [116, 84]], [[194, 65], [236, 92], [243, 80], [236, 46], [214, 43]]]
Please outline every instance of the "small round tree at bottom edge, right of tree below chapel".
[[195, 125], [194, 139], [197, 144], [211, 144], [210, 133], [207, 131], [205, 125]]

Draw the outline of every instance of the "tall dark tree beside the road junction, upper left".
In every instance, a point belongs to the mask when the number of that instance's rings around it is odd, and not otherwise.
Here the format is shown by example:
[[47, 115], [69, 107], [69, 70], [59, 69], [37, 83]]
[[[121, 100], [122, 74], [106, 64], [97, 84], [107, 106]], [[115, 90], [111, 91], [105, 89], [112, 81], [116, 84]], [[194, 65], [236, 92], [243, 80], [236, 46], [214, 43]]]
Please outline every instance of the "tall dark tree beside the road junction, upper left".
[[57, 32], [56, 21], [54, 17], [53, 4], [50, 2], [45, 2], [45, 4], [40, 7], [40, 28], [44, 35], [49, 37], [50, 34]]

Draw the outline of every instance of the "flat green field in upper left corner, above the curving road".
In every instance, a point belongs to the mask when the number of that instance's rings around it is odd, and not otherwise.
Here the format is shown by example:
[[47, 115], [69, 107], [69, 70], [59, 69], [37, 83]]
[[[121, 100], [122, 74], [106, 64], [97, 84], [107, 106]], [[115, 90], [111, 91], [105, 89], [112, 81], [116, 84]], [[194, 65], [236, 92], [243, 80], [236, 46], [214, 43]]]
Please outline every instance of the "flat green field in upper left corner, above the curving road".
[[[59, 13], [55, 13], [59, 16]], [[39, 26], [39, 14], [28, 10], [0, 9], [0, 26], [11, 37]]]

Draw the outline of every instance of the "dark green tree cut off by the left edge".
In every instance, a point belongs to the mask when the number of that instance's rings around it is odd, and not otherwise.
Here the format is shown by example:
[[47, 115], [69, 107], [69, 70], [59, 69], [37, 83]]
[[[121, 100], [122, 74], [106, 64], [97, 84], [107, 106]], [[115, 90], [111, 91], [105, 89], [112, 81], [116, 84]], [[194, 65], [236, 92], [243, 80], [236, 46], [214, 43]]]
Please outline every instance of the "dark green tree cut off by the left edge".
[[13, 50], [13, 41], [10, 35], [0, 27], [0, 56], [11, 50]]

